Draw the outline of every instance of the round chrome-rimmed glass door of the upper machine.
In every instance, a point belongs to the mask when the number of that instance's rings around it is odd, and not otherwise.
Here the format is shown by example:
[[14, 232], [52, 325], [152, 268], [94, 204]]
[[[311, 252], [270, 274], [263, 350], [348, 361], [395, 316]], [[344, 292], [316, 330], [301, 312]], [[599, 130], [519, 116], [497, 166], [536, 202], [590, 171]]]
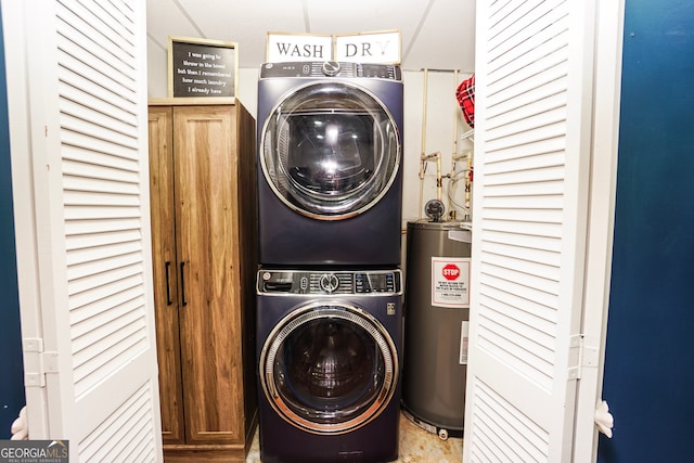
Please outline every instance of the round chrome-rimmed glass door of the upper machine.
[[400, 165], [397, 126], [364, 89], [339, 81], [298, 88], [278, 104], [261, 138], [261, 169], [282, 202], [339, 220], [376, 204]]

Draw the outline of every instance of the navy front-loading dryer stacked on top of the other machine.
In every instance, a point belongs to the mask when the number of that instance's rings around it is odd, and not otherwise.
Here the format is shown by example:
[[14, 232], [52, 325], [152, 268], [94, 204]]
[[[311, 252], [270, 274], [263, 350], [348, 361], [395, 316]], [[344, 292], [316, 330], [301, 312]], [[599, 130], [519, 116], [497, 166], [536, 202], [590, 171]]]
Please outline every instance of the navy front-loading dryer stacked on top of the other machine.
[[400, 265], [399, 66], [266, 63], [258, 127], [261, 265]]

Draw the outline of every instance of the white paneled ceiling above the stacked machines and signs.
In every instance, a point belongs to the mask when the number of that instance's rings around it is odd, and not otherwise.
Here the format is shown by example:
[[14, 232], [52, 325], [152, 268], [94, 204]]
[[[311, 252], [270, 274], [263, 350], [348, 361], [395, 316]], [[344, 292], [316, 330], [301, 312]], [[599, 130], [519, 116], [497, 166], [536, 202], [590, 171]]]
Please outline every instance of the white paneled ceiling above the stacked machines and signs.
[[398, 29], [403, 68], [472, 72], [475, 0], [146, 0], [147, 35], [239, 43], [241, 67], [259, 67], [268, 31], [357, 34]]

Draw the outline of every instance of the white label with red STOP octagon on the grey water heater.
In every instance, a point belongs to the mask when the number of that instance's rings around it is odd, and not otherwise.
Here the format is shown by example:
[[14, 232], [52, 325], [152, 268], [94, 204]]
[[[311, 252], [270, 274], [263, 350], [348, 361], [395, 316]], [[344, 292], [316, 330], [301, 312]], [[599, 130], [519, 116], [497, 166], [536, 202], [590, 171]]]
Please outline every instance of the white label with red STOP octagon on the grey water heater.
[[432, 306], [470, 307], [470, 257], [432, 257]]

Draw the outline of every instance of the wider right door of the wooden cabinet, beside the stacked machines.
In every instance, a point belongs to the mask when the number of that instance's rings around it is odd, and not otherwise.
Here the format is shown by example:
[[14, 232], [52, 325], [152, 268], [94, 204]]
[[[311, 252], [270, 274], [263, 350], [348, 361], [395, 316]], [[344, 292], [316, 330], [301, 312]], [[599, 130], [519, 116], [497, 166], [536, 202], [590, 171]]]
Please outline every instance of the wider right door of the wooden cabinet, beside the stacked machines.
[[234, 106], [174, 108], [188, 443], [242, 442]]

